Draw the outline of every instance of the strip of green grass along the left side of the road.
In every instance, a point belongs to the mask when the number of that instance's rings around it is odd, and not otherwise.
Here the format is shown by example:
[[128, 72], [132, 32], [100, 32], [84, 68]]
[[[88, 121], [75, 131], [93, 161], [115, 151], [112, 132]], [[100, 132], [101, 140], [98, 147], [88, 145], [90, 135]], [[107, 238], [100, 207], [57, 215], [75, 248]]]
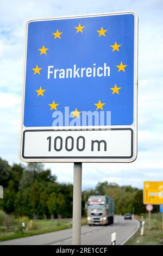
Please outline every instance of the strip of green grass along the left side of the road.
[[[85, 220], [85, 218], [82, 219], [82, 225], [86, 224], [87, 221]], [[51, 220], [36, 220], [33, 222], [32, 228], [29, 227], [29, 221], [27, 222], [26, 226], [27, 228], [24, 234], [22, 233], [21, 225], [18, 227], [18, 230], [16, 230], [17, 227], [15, 226], [14, 231], [2, 231], [2, 229], [0, 228], [0, 241], [7, 241], [21, 237], [46, 234], [49, 232], [72, 228], [72, 223], [63, 220], [61, 220], [60, 222], [58, 222], [58, 220], [54, 220], [53, 223]]]

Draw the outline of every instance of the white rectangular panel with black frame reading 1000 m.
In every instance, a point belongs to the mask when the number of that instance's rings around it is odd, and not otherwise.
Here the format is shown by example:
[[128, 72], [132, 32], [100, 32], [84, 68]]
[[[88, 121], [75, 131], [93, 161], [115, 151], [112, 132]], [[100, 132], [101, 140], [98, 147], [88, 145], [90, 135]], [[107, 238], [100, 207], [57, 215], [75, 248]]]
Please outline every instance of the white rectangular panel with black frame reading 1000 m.
[[[23, 133], [24, 159], [130, 159], [133, 131], [113, 130], [26, 130]], [[25, 147], [24, 147], [25, 146]]]

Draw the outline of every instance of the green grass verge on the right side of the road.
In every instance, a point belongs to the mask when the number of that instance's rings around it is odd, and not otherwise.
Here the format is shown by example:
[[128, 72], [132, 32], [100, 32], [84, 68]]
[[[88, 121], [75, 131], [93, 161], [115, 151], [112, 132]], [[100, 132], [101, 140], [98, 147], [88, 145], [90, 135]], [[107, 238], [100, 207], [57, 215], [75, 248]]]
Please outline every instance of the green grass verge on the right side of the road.
[[[140, 221], [141, 217], [136, 217]], [[136, 234], [125, 245], [163, 245], [163, 230], [161, 214], [151, 214], [151, 229], [149, 229], [148, 214], [143, 216], [145, 229], [143, 236], [140, 235], [140, 228]]]

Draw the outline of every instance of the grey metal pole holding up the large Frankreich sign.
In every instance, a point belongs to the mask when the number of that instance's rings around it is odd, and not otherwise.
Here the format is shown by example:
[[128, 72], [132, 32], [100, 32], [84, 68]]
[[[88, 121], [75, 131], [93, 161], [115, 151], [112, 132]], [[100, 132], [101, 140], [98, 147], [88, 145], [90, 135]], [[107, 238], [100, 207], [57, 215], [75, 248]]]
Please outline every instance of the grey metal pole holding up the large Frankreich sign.
[[72, 245], [80, 245], [80, 242], [81, 242], [81, 214], [82, 214], [82, 163], [74, 163]]

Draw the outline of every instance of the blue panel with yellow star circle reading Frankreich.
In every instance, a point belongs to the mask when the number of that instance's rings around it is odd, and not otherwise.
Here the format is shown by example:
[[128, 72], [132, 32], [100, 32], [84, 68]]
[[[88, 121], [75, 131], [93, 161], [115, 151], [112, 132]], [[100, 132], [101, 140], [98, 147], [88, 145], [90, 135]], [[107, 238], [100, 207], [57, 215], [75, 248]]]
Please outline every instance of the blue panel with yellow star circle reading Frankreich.
[[[99, 125], [132, 125], [134, 29], [133, 13], [30, 21], [24, 126], [69, 126], [76, 117], [89, 125], [87, 111], [111, 113]], [[63, 114], [56, 124], [55, 111]]]

